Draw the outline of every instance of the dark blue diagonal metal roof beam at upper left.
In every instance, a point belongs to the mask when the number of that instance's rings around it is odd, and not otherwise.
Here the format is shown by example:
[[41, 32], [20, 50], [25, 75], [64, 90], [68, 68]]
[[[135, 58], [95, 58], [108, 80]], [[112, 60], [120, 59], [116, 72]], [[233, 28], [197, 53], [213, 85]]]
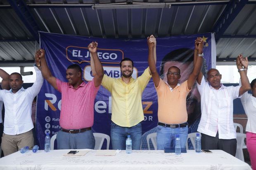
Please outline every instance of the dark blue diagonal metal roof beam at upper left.
[[39, 27], [36, 23], [36, 20], [33, 18], [33, 15], [31, 14], [28, 6], [26, 5], [26, 2], [24, 2], [24, 0], [8, 0], [8, 2], [19, 16], [21, 21], [24, 23], [28, 31], [32, 34], [34, 39], [39, 42]]

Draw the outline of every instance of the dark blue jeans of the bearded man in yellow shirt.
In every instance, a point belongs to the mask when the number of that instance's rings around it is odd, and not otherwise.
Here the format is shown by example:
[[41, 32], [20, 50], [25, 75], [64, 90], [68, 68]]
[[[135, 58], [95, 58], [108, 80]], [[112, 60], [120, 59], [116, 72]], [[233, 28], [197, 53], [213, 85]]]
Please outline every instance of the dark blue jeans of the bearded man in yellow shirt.
[[141, 123], [130, 128], [118, 126], [116, 123], [111, 123], [111, 143], [112, 149], [126, 149], [126, 138], [130, 135], [132, 138], [132, 149], [140, 150], [142, 129]]

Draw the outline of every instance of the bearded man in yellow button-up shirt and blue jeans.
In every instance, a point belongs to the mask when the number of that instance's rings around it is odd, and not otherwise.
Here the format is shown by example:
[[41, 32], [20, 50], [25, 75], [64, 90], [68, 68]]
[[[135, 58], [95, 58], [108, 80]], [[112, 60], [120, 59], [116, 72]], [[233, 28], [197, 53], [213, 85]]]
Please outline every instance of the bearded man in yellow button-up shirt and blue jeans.
[[[152, 41], [153, 49], [156, 49], [154, 37]], [[155, 50], [154, 54], [156, 54]], [[120, 63], [120, 68], [121, 78], [115, 79], [104, 75], [101, 83], [112, 96], [112, 149], [126, 149], [126, 137], [130, 135], [133, 143], [132, 149], [140, 150], [142, 136], [140, 122], [144, 120], [141, 99], [142, 92], [151, 79], [151, 73], [147, 68], [140, 77], [133, 79], [133, 61], [130, 58], [124, 58]], [[93, 70], [94, 68], [92, 68], [92, 75]]]

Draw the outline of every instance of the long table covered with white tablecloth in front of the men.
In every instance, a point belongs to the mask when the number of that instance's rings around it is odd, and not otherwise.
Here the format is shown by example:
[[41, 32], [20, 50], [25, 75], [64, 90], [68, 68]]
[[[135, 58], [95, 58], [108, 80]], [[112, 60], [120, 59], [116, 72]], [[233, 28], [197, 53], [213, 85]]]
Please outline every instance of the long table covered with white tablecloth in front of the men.
[[95, 156], [96, 150], [90, 150], [84, 156], [63, 156], [69, 151], [18, 151], [0, 158], [0, 170], [251, 170], [247, 163], [221, 150], [211, 150], [212, 154], [188, 150], [181, 155], [163, 150], [126, 154], [122, 150], [116, 156]]

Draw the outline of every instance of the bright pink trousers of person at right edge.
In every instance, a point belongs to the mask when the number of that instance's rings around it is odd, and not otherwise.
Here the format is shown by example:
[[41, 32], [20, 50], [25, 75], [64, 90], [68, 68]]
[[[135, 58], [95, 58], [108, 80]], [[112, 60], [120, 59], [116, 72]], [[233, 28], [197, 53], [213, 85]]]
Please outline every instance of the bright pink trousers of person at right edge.
[[256, 170], [256, 133], [246, 133], [246, 145], [250, 155], [251, 168]]

